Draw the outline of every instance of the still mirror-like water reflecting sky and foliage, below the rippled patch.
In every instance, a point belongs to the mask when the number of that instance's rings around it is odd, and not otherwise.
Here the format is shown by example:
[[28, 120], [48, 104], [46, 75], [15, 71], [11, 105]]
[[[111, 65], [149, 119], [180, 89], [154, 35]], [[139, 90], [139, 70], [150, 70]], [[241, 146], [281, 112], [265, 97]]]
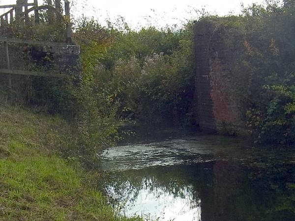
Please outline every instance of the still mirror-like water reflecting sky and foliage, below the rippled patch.
[[[175, 214], [163, 214], [163, 211], [167, 212], [167, 207], [176, 210], [180, 204], [182, 208], [176, 214], [190, 216], [187, 221], [295, 219], [293, 164], [266, 166], [212, 161], [150, 167], [115, 172], [109, 176], [105, 188], [126, 215], [154, 214], [160, 220], [177, 221], [177, 217], [171, 217]], [[165, 199], [170, 202], [159, 202]], [[143, 202], [153, 206], [144, 206]], [[140, 211], [143, 208], [149, 211]], [[191, 214], [192, 211], [195, 213]]]

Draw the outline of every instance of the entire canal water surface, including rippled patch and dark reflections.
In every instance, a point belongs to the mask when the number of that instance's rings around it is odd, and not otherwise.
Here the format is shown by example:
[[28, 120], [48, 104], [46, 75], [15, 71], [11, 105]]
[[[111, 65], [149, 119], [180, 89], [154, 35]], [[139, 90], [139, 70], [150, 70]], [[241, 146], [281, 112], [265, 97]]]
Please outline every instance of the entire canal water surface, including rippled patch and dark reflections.
[[[292, 150], [293, 149], [293, 150]], [[152, 221], [295, 221], [295, 149], [169, 135], [102, 154], [122, 215]]]

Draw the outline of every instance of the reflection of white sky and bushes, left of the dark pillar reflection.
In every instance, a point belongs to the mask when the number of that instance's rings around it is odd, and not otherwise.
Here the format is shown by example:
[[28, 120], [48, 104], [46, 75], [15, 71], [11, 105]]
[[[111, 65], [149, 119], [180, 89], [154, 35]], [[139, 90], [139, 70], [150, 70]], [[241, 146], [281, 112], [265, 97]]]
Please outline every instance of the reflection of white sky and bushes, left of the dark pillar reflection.
[[[160, 221], [201, 221], [201, 198], [189, 182], [189, 170], [199, 170], [196, 182], [211, 181], [207, 170], [211, 163], [196, 166], [149, 167], [114, 172], [106, 182], [106, 191], [126, 216], [145, 215]], [[190, 179], [191, 179], [190, 178]], [[201, 186], [204, 184], [201, 184]]]

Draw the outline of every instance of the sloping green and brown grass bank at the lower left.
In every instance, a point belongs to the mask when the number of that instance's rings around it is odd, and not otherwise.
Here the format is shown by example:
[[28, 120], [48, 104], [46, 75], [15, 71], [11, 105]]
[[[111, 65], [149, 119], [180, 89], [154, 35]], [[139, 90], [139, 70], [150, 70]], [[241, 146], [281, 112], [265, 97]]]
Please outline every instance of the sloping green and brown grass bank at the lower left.
[[0, 221], [138, 220], [116, 215], [93, 174], [59, 157], [71, 130], [58, 116], [0, 106]]

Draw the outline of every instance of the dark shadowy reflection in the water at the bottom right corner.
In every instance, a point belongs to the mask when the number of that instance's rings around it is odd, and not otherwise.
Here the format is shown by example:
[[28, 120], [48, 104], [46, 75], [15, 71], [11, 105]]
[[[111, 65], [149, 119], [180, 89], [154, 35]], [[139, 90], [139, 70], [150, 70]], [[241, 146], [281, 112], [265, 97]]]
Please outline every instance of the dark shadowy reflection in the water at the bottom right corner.
[[295, 184], [293, 164], [216, 162], [213, 179], [209, 220], [294, 221], [295, 189], [289, 188]]

